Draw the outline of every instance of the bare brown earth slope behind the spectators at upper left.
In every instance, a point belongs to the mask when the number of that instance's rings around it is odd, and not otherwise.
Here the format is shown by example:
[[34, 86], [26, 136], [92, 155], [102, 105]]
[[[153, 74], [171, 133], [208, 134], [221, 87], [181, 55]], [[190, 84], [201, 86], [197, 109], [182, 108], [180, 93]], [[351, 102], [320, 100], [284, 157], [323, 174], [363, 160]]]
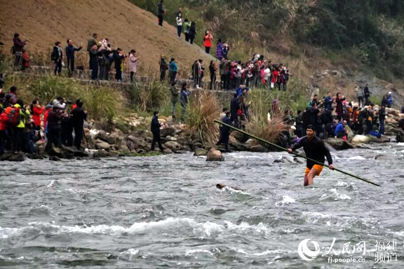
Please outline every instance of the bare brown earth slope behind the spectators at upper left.
[[188, 72], [198, 58], [211, 60], [200, 47], [186, 43], [184, 38], [179, 40], [174, 26], [165, 23], [160, 28], [156, 16], [126, 0], [3, 1], [1, 13], [5, 49], [11, 47], [15, 32], [29, 40], [28, 51], [39, 53], [48, 53], [55, 41], [61, 41], [64, 47], [67, 38], [73, 39], [76, 45], [86, 46], [87, 39], [96, 32], [98, 41], [108, 37], [114, 48], [119, 46], [125, 52], [135, 49], [145, 69], [150, 66], [158, 70], [161, 55], [166, 59], [175, 57], [179, 72], [181, 69]]

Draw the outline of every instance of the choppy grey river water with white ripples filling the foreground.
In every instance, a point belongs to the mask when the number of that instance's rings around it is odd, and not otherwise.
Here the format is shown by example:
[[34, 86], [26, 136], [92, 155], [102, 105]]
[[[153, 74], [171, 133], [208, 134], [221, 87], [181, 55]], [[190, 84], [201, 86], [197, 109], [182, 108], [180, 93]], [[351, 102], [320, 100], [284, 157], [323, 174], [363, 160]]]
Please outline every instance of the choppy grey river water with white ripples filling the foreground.
[[402, 268], [404, 144], [332, 155], [382, 187], [324, 169], [305, 188], [282, 152], [3, 162], [0, 267]]

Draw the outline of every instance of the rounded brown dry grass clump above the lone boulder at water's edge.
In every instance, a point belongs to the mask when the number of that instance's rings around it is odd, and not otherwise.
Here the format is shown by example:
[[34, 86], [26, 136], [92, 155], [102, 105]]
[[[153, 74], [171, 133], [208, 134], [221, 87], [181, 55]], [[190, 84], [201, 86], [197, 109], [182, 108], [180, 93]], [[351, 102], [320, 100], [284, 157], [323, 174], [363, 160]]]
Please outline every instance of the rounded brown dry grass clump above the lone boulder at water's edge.
[[214, 120], [218, 118], [220, 109], [221, 105], [215, 94], [209, 91], [192, 92], [186, 118], [192, 136], [204, 143], [216, 143], [219, 132]]

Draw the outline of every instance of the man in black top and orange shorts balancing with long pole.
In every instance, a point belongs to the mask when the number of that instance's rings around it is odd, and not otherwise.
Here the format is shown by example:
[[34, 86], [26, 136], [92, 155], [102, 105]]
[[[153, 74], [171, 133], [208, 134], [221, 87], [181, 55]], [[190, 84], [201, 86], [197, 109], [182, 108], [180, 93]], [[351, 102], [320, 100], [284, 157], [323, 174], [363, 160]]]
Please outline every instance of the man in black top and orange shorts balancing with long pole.
[[[324, 163], [324, 156], [327, 157], [328, 168], [333, 170], [332, 157], [330, 151], [326, 148], [323, 140], [316, 136], [315, 127], [309, 125], [306, 130], [307, 136], [302, 137], [292, 148], [288, 149], [288, 152], [303, 147], [306, 156], [308, 158], [317, 160], [319, 163]], [[307, 160], [306, 171], [305, 171], [305, 182], [304, 186], [313, 185], [313, 179], [315, 176], [320, 176], [323, 166], [313, 162], [312, 160]]]

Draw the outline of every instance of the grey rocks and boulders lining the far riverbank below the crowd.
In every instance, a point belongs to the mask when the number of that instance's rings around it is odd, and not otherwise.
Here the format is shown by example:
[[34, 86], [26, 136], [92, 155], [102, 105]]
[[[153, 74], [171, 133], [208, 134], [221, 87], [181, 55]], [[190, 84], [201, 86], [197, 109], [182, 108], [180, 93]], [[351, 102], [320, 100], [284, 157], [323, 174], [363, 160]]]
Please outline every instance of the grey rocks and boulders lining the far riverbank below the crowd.
[[[374, 144], [389, 142], [404, 142], [404, 132], [397, 128], [398, 122], [404, 118], [397, 110], [386, 109], [386, 135], [381, 138], [374, 136], [354, 135], [348, 130], [348, 141], [337, 138], [324, 140], [331, 150], [344, 150], [350, 148], [377, 149]], [[49, 154], [44, 151], [44, 141], [36, 143], [35, 154], [13, 154], [5, 153], [0, 160], [22, 162], [26, 158], [31, 159], [81, 159], [86, 157], [123, 157], [123, 156], [153, 156], [161, 154], [158, 151], [150, 151], [150, 144], [153, 135], [148, 130], [151, 118], [131, 116], [125, 120], [127, 130], [123, 132], [117, 128], [116, 122], [100, 123], [90, 121], [84, 129], [85, 146], [88, 150], [77, 150], [62, 146], [53, 148]], [[164, 154], [194, 152], [194, 156], [208, 156], [207, 160], [224, 160], [221, 152], [224, 146], [203, 143], [196, 139], [185, 124], [173, 122], [171, 117], [161, 117], [163, 123], [161, 129]], [[395, 138], [395, 139], [394, 139]], [[238, 133], [230, 134], [229, 146], [231, 151], [269, 152], [274, 149], [264, 147], [255, 140]]]

